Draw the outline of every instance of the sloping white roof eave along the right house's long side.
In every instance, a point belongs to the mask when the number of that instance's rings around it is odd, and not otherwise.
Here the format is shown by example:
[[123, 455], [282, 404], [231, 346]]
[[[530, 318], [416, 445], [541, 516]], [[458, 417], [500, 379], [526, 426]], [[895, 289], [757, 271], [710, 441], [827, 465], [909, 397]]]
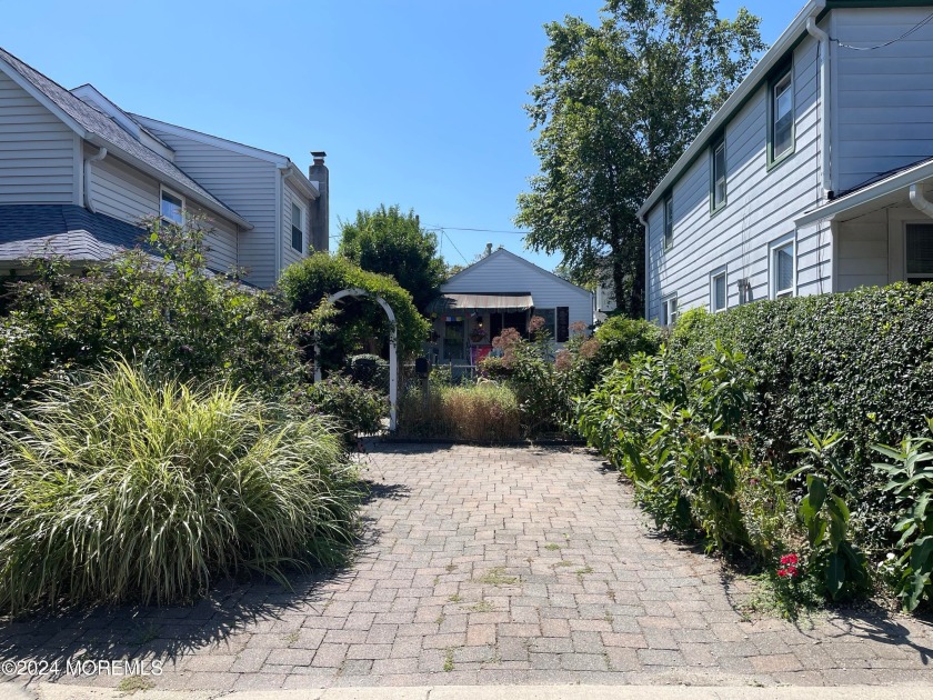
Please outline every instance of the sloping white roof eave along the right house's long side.
[[638, 210], [640, 218], [643, 218], [658, 203], [658, 200], [663, 197], [664, 192], [680, 177], [681, 170], [686, 168], [700, 156], [701, 151], [706, 147], [706, 142], [725, 126], [729, 119], [732, 118], [733, 112], [744, 103], [745, 99], [758, 90], [759, 83], [784, 58], [784, 54], [794, 46], [800, 36], [806, 31], [806, 20], [811, 17], [819, 16], [825, 8], [826, 0], [810, 0], [803, 7], [787, 29], [778, 37], [778, 41], [761, 57], [761, 60], [745, 76], [745, 79], [739, 84], [735, 91], [729, 96], [729, 99], [716, 110], [713, 118], [696, 134], [696, 138], [693, 139], [688, 149], [674, 163], [674, 167], [668, 171], [668, 174], [664, 176], [661, 182], [658, 183], [658, 187], [648, 196], [648, 199], [644, 200], [644, 203]]

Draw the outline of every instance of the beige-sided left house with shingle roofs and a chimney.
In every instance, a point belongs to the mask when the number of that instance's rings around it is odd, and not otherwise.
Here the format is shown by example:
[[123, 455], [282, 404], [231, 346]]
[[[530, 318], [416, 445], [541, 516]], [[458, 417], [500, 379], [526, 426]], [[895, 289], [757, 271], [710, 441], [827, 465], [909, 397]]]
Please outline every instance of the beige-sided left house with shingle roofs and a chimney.
[[212, 229], [207, 263], [270, 287], [328, 249], [329, 177], [279, 153], [132, 114], [67, 90], [0, 49], [0, 269], [52, 252], [76, 266], [137, 244], [143, 217]]

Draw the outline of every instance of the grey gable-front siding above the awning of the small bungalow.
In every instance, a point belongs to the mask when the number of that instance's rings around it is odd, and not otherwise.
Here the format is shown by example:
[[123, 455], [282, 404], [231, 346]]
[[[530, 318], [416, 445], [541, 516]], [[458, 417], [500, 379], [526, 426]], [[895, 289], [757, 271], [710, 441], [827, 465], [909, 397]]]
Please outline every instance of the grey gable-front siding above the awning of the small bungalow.
[[510, 253], [494, 252], [441, 286], [445, 292], [508, 293], [530, 292], [535, 308], [569, 307], [570, 323], [593, 322], [593, 296], [585, 289], [564, 283], [545, 270], [516, 260]]

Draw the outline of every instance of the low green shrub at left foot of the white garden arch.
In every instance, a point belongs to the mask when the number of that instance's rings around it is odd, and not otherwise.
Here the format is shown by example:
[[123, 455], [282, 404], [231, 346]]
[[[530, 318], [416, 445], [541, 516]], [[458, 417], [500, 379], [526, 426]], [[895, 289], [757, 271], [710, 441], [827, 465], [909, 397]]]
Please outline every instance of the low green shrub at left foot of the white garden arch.
[[382, 430], [382, 419], [389, 417], [389, 398], [384, 392], [340, 372], [298, 387], [290, 394], [290, 402], [303, 412], [332, 416], [351, 443], [358, 436]]

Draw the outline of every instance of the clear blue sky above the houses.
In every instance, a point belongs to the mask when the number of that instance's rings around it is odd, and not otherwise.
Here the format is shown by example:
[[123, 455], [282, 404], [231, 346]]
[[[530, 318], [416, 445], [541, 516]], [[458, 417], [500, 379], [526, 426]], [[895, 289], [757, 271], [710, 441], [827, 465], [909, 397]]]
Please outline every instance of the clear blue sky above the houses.
[[[0, 0], [0, 46], [67, 88], [128, 111], [289, 156], [328, 152], [331, 236], [358, 209], [398, 203], [445, 227], [462, 263], [486, 241], [522, 250], [515, 197], [538, 162], [522, 110], [542, 24], [602, 0]], [[744, 4], [773, 42], [803, 7]], [[331, 241], [335, 247], [337, 241]], [[459, 252], [458, 252], [459, 251]], [[461, 257], [462, 253], [462, 257]]]

